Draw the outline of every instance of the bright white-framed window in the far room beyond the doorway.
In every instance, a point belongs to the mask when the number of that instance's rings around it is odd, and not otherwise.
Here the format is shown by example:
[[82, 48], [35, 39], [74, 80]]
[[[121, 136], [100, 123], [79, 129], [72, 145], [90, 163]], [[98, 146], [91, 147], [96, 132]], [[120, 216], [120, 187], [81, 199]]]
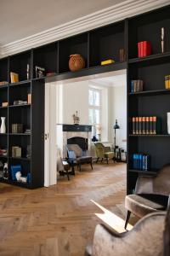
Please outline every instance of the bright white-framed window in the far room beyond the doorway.
[[101, 91], [90, 87], [88, 90], [88, 120], [90, 125], [101, 123]]

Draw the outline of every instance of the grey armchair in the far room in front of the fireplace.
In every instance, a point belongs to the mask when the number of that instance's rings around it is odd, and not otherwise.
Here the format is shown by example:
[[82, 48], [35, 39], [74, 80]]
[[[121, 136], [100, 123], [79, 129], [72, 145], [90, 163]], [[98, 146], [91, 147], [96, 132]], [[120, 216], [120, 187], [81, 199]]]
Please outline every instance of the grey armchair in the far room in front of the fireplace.
[[90, 164], [93, 169], [92, 156], [87, 155], [87, 152], [82, 151], [82, 148], [77, 144], [67, 144], [66, 148], [68, 154], [67, 161], [71, 164], [73, 172], [74, 166], [78, 166], [81, 172], [81, 166], [84, 164]]

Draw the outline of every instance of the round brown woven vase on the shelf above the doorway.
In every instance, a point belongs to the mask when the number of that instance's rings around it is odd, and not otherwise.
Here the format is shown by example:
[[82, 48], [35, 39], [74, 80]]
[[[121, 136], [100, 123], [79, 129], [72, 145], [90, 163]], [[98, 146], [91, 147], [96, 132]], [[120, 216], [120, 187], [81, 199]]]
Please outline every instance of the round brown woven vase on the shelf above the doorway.
[[85, 67], [85, 61], [82, 55], [70, 55], [69, 68], [71, 71], [77, 71]]

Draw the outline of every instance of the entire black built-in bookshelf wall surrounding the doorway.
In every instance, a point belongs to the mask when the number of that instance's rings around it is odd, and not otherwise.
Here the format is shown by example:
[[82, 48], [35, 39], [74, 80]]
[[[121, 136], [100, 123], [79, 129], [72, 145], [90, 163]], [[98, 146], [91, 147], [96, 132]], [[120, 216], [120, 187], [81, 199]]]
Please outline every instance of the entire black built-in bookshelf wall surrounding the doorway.
[[[134, 189], [137, 177], [146, 174], [132, 169], [132, 155], [146, 153], [151, 156], [150, 171], [155, 171], [169, 158], [170, 136], [167, 135], [167, 112], [170, 112], [170, 90], [165, 89], [164, 77], [170, 74], [170, 5], [148, 13], [134, 16], [114, 24], [64, 38], [0, 60], [0, 116], [6, 118], [7, 133], [0, 134], [0, 146], [8, 149], [8, 171], [13, 164], [22, 164], [25, 172], [31, 172], [31, 183], [14, 183], [26, 188], [43, 186], [43, 143], [44, 143], [44, 84], [56, 80], [108, 73], [127, 69], [127, 193]], [[165, 28], [164, 53], [161, 53], [161, 27]], [[138, 42], [150, 41], [151, 55], [138, 57]], [[124, 60], [120, 60], [120, 49], [124, 49]], [[80, 54], [85, 59], [85, 68], [77, 72], [69, 70], [70, 55]], [[101, 61], [113, 59], [115, 63], [101, 66]], [[29, 73], [27, 70], [29, 65]], [[44, 76], [36, 77], [36, 66], [44, 67]], [[19, 82], [11, 84], [10, 73], [19, 74]], [[50, 77], [47, 73], [51, 73]], [[143, 79], [144, 90], [131, 92], [131, 80]], [[31, 104], [14, 105], [14, 101], [26, 102], [31, 93]], [[2, 107], [2, 102], [8, 102]], [[161, 133], [156, 135], [133, 135], [130, 119], [133, 116], [157, 116], [161, 119]], [[13, 134], [11, 125], [22, 123], [24, 130]], [[11, 155], [11, 147], [18, 144], [23, 148], [20, 159]], [[26, 159], [26, 145], [31, 145], [31, 158]], [[25, 174], [26, 174], [25, 173]]]

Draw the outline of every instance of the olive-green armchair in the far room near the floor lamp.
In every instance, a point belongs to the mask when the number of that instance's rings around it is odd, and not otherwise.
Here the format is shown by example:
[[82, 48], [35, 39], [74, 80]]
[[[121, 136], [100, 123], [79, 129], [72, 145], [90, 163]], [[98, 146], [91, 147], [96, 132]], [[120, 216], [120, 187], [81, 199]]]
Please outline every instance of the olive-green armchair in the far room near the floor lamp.
[[95, 153], [97, 156], [96, 163], [101, 160], [101, 163], [103, 160], [107, 161], [107, 164], [110, 159], [114, 161], [115, 154], [113, 151], [111, 151], [111, 147], [105, 147], [103, 143], [94, 143], [95, 145]]

